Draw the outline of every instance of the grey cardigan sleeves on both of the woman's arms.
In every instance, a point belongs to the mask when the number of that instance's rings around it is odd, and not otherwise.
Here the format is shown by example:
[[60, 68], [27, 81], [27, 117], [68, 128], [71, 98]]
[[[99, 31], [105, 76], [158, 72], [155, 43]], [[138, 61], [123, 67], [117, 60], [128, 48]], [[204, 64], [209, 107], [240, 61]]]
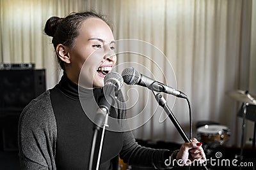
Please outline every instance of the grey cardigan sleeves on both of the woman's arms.
[[[56, 169], [57, 125], [47, 90], [24, 108], [19, 120], [19, 157], [22, 169]], [[164, 165], [169, 150], [145, 148], [136, 143], [132, 132], [123, 132], [119, 156], [132, 166], [170, 169]], [[117, 169], [116, 169], [117, 170]]]

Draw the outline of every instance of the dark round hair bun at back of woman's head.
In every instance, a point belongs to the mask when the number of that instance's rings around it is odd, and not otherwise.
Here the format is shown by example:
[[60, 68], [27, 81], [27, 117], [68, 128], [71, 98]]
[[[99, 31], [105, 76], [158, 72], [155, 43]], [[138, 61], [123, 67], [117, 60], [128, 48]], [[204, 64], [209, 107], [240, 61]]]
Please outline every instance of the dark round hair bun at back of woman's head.
[[44, 27], [45, 34], [53, 37], [61, 20], [62, 20], [62, 18], [60, 18], [60, 17], [49, 18]]

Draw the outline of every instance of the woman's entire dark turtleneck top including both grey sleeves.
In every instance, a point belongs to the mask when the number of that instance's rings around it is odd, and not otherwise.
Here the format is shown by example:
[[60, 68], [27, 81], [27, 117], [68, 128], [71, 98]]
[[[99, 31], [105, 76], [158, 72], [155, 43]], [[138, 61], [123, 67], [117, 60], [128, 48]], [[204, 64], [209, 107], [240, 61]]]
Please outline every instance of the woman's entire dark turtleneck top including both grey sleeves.
[[[78, 86], [64, 74], [56, 87], [24, 108], [19, 118], [18, 135], [21, 169], [88, 169], [93, 139], [92, 120], [97, 113], [102, 89], [77, 89]], [[120, 90], [117, 101], [120, 101], [116, 102], [118, 109], [110, 109], [100, 170], [118, 170], [118, 154], [132, 166], [171, 168], [164, 162], [172, 152], [145, 148], [136, 143], [129, 131]], [[111, 118], [116, 116], [118, 119]], [[99, 149], [99, 145], [95, 148]], [[96, 150], [95, 156], [97, 153]]]

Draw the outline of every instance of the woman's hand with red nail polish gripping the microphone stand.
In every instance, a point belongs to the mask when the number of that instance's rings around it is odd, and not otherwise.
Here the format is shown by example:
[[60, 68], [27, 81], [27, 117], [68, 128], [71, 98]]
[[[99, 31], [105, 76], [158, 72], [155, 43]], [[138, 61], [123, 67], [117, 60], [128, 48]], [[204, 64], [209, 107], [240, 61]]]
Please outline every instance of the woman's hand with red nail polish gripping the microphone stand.
[[180, 147], [179, 152], [176, 155], [176, 159], [179, 164], [189, 165], [193, 163], [194, 160], [198, 161], [200, 164], [204, 163], [206, 160], [202, 144], [197, 141], [196, 138], [192, 138], [190, 143], [183, 143]]

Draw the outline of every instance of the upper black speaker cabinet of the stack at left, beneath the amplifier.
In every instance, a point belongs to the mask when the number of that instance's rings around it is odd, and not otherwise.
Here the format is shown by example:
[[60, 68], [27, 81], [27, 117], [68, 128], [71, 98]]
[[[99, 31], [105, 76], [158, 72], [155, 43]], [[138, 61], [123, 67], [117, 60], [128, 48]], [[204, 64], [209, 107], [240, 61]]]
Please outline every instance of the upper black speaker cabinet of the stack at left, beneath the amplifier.
[[1, 70], [0, 109], [22, 110], [45, 91], [45, 70]]

